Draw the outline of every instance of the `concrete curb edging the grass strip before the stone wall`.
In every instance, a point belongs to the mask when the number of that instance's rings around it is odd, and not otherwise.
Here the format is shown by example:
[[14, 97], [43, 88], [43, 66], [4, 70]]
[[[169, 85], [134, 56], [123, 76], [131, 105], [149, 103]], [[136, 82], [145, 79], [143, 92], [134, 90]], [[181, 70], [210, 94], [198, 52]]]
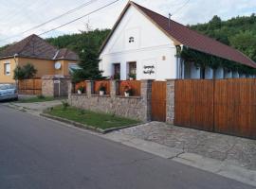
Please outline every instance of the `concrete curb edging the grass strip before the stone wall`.
[[119, 129], [131, 128], [131, 127], [135, 127], [135, 126], [141, 124], [141, 123], [139, 123], [139, 124], [124, 126], [124, 127], [119, 127], [119, 128], [111, 128], [111, 129], [100, 129], [100, 128], [94, 128], [94, 127], [91, 127], [91, 126], [87, 126], [87, 125], [84, 125], [84, 124], [81, 124], [81, 123], [78, 123], [78, 122], [75, 122], [75, 121], [71, 121], [71, 120], [68, 120], [68, 119], [65, 119], [65, 118], [62, 118], [62, 117], [49, 115], [47, 113], [40, 113], [40, 115], [43, 116], [43, 117], [49, 118], [49, 119], [54, 119], [54, 120], [57, 120], [57, 121], [64, 122], [66, 124], [70, 124], [70, 125], [75, 126], [77, 128], [97, 131], [97, 132], [100, 132], [101, 134], [106, 134], [108, 132], [112, 132], [112, 131], [119, 130]]

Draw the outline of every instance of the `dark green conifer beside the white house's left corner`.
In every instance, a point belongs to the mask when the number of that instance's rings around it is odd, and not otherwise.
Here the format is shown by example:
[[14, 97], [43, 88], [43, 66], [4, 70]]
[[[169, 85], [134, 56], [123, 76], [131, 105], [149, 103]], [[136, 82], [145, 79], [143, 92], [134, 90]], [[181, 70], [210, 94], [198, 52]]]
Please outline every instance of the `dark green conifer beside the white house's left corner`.
[[86, 79], [101, 78], [101, 71], [99, 70], [99, 47], [95, 36], [88, 35], [89, 32], [83, 32], [84, 37], [79, 41], [76, 48], [79, 53], [80, 62], [79, 67], [73, 71], [73, 82], [80, 82]]

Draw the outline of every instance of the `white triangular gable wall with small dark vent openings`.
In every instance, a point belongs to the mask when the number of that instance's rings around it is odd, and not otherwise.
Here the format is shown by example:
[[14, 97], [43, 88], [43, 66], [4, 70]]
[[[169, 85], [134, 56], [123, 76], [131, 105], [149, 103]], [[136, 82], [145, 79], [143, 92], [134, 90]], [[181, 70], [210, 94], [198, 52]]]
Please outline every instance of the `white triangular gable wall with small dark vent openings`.
[[164, 45], [174, 47], [174, 42], [132, 4], [119, 19], [101, 49], [101, 56]]

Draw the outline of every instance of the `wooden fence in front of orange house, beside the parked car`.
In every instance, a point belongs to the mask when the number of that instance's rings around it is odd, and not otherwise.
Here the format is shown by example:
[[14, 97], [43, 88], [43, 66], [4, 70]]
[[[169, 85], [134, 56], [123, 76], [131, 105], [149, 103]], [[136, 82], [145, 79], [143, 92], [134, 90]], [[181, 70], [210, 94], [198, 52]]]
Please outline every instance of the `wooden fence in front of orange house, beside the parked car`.
[[18, 81], [18, 94], [40, 95], [42, 94], [42, 79], [24, 79]]

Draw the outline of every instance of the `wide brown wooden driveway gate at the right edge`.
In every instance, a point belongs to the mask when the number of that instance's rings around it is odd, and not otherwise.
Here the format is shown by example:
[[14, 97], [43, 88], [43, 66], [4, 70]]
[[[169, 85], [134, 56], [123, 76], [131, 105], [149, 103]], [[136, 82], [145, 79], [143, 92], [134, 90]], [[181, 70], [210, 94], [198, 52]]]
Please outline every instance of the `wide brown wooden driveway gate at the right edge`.
[[256, 79], [176, 80], [174, 124], [256, 139]]

